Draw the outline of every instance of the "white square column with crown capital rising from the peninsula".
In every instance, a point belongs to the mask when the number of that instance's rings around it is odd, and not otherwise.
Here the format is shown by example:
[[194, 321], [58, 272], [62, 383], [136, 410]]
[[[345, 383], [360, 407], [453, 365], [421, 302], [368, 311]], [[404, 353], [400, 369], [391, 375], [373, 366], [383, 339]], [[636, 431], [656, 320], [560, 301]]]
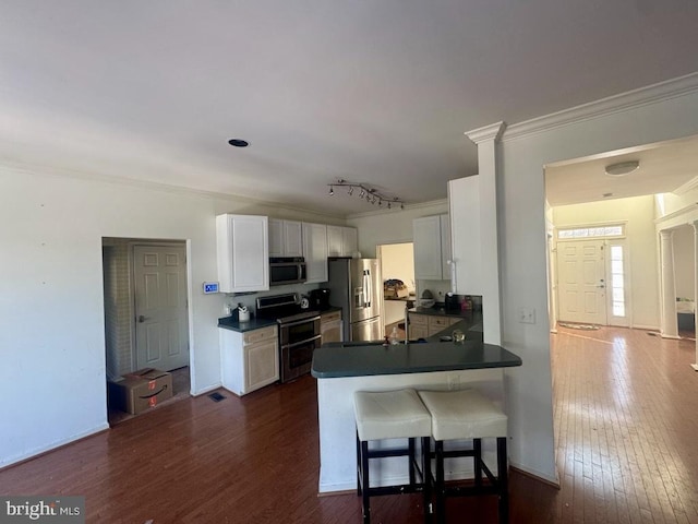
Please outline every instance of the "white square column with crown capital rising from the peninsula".
[[482, 257], [482, 327], [484, 342], [502, 344], [502, 307], [500, 295], [500, 253], [497, 230], [497, 163], [496, 143], [506, 124], [493, 123], [468, 131], [478, 146], [478, 174], [480, 175], [480, 238], [493, 239], [480, 246]]

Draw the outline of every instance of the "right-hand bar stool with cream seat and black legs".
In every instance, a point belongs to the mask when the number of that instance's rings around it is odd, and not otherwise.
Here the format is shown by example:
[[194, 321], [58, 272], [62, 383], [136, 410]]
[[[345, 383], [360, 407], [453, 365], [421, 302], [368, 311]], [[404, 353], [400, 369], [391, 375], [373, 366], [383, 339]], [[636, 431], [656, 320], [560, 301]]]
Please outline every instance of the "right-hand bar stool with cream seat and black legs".
[[[436, 519], [446, 522], [446, 497], [496, 495], [498, 497], [500, 523], [509, 520], [509, 497], [506, 434], [507, 416], [489, 398], [476, 390], [420, 391], [419, 396], [432, 415], [432, 437], [436, 457]], [[482, 461], [482, 440], [496, 438], [497, 476]], [[446, 440], [472, 439], [472, 449], [444, 451]], [[432, 455], [432, 453], [430, 453]], [[472, 456], [474, 483], [472, 486], [456, 486], [444, 478], [444, 458]], [[483, 484], [482, 473], [489, 483]]]

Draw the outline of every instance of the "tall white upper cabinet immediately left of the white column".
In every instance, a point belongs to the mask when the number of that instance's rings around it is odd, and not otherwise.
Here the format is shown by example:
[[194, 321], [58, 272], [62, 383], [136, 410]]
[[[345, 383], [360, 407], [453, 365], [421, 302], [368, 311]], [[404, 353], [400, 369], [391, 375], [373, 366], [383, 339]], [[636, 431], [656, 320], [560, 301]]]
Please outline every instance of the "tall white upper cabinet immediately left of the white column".
[[459, 295], [482, 295], [479, 175], [448, 182], [448, 209], [455, 265], [452, 289]]

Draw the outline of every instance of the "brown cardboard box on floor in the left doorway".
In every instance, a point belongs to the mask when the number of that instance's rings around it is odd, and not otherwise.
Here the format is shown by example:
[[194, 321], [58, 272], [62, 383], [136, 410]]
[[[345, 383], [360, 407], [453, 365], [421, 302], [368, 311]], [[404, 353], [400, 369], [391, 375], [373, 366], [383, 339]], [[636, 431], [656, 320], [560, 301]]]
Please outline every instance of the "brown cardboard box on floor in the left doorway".
[[146, 368], [109, 382], [109, 405], [137, 415], [172, 397], [172, 376]]

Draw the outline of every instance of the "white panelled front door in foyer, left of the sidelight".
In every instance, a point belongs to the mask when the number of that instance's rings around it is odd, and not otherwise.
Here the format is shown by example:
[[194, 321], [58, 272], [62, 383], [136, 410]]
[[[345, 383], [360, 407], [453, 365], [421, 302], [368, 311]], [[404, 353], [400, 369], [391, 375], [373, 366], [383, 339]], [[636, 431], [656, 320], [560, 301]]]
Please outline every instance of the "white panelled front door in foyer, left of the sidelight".
[[606, 325], [603, 240], [557, 242], [558, 320]]

